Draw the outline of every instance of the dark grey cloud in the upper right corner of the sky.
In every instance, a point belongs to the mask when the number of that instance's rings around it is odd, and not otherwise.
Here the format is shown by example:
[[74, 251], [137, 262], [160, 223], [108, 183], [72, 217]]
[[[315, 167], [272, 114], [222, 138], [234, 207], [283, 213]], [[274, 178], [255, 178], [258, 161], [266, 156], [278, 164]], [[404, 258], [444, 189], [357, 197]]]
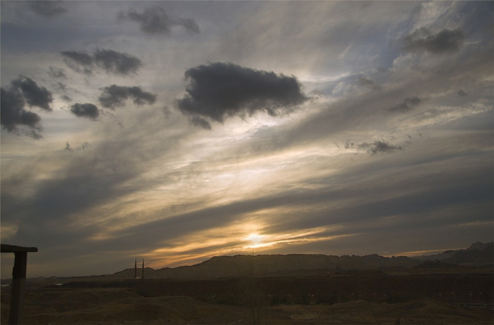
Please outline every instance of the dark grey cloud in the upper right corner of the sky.
[[432, 34], [426, 28], [413, 31], [403, 38], [403, 50], [417, 52], [427, 51], [434, 54], [457, 51], [463, 43], [463, 32], [459, 29], [444, 29]]

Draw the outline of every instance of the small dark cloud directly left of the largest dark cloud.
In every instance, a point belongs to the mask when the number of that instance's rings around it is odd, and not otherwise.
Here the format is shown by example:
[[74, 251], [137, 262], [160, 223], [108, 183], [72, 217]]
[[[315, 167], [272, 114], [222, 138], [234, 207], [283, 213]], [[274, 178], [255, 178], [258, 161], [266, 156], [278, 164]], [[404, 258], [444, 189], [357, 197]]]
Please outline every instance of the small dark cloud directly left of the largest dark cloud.
[[123, 106], [127, 99], [132, 99], [135, 105], [154, 104], [156, 95], [143, 91], [140, 87], [123, 87], [111, 85], [102, 89], [99, 102], [105, 108]]

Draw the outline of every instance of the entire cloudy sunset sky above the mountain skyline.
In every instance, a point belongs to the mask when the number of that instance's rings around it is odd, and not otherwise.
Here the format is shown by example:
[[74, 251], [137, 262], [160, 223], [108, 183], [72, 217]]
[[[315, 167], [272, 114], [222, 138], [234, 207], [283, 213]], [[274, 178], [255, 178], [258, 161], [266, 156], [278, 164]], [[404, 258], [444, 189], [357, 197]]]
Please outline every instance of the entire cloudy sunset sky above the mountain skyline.
[[1, 242], [28, 277], [491, 242], [493, 3], [1, 1]]

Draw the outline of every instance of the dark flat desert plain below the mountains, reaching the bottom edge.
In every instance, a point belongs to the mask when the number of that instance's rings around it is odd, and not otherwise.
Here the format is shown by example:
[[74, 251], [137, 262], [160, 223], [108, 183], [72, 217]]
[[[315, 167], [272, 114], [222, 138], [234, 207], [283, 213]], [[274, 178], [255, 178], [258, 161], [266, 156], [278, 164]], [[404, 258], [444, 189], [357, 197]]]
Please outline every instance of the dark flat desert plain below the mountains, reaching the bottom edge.
[[30, 284], [24, 323], [494, 324], [492, 303], [492, 273], [146, 279]]

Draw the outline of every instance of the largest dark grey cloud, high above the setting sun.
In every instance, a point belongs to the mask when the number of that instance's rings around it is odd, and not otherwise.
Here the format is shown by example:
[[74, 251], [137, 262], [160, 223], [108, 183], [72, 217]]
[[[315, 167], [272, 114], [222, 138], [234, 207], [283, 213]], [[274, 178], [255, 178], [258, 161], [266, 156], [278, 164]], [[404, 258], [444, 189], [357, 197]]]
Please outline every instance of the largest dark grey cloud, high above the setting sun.
[[258, 111], [277, 116], [307, 100], [294, 76], [232, 63], [217, 62], [191, 68], [185, 77], [190, 80], [188, 94], [177, 101], [177, 108], [193, 121], [210, 118], [223, 122], [228, 116], [253, 115]]

